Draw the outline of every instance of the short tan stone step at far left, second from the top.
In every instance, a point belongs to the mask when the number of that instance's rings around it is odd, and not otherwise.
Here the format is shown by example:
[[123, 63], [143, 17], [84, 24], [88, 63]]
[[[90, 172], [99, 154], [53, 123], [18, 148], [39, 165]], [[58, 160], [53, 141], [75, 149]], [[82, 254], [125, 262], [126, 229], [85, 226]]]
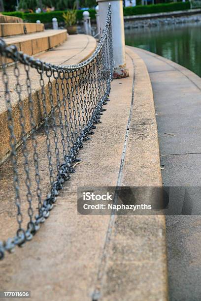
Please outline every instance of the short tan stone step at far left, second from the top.
[[0, 23], [0, 36], [10, 36], [44, 31], [44, 24], [37, 23]]

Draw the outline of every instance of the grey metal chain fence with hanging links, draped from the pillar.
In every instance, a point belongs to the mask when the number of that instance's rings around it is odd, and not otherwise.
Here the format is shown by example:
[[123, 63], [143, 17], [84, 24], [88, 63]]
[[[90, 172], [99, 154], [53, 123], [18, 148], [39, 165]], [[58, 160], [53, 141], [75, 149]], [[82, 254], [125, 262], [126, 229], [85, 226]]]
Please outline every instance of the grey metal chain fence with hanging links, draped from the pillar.
[[[10, 134], [10, 157], [1, 165], [0, 173], [3, 174], [10, 164], [13, 174], [11, 199], [15, 204], [18, 224], [14, 237], [0, 241], [2, 259], [5, 251], [11, 252], [16, 245], [22, 246], [32, 240], [40, 224], [49, 216], [65, 181], [74, 173], [83, 142], [90, 140], [89, 135], [94, 133], [95, 124], [100, 123], [100, 116], [105, 111], [102, 106], [108, 101], [113, 78], [111, 8], [108, 7], [105, 28], [96, 50], [81, 63], [50, 64], [18, 51], [14, 45], [6, 46], [2, 39], [0, 55]], [[7, 58], [12, 59], [14, 64], [8, 66]], [[32, 70], [37, 74], [34, 82], [37, 81], [40, 86], [37, 101], [41, 102], [43, 124], [39, 129], [35, 120]], [[19, 115], [21, 144], [18, 150], [11, 89], [15, 90]], [[25, 97], [27, 103], [24, 102]], [[30, 137], [27, 135], [27, 115], [31, 126]], [[41, 139], [46, 142], [45, 151], [44, 147], [40, 151]], [[44, 166], [44, 160], [47, 166]], [[47, 183], [43, 183], [46, 170], [49, 191], [46, 190]], [[1, 205], [9, 194], [10, 191], [7, 196], [1, 195]]]

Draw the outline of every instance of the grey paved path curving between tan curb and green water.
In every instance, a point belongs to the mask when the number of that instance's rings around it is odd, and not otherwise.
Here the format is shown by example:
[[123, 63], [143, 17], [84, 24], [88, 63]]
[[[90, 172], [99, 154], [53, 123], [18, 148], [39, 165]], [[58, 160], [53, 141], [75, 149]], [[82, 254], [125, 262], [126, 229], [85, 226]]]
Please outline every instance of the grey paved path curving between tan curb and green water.
[[[158, 55], [135, 51], [153, 87], [163, 183], [201, 186], [201, 78]], [[196, 205], [200, 210], [200, 192], [188, 189], [193, 212]], [[201, 216], [167, 216], [166, 223], [170, 301], [201, 300]]]

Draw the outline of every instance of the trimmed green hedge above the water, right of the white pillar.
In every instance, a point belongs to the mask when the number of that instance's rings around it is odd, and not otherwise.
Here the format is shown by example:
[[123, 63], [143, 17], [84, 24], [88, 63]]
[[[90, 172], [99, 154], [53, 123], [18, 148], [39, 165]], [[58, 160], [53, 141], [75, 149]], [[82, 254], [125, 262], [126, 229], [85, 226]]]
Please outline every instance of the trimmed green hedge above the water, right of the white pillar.
[[153, 14], [159, 12], [168, 12], [168, 11], [186, 10], [186, 9], [190, 9], [189, 2], [137, 5], [133, 7], [124, 7], [124, 16]]

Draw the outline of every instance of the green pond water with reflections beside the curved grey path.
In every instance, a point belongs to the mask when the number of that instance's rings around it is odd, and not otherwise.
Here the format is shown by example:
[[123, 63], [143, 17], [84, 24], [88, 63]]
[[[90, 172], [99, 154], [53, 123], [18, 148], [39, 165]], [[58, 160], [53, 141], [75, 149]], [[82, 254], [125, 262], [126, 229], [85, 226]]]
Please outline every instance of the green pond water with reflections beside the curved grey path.
[[201, 77], [201, 23], [125, 30], [126, 44], [146, 49]]

